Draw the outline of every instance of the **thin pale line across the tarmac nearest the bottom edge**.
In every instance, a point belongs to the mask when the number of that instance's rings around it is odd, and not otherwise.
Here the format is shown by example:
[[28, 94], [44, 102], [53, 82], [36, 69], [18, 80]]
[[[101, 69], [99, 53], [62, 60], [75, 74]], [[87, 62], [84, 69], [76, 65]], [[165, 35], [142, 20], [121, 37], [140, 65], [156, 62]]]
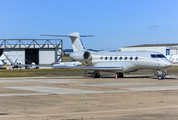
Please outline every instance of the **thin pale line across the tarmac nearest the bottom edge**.
[[97, 113], [128, 112], [128, 111], [156, 110], [156, 109], [169, 109], [169, 108], [178, 108], [178, 106], [153, 107], [153, 108], [136, 108], [136, 109], [110, 110], [110, 111], [73, 112], [73, 113], [60, 113], [60, 114], [7, 115], [7, 116], [3, 115], [3, 116], [0, 116], [0, 118], [42, 117], [42, 116], [78, 115], [78, 114], [97, 114]]

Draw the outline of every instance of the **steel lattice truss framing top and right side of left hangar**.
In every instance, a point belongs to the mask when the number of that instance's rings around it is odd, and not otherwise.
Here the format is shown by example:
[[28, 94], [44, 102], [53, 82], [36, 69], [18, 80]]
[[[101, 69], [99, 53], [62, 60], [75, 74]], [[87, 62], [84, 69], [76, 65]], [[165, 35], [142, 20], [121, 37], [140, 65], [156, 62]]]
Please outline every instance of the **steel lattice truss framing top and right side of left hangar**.
[[62, 39], [0, 39], [0, 49], [54, 49], [55, 62], [62, 61]]

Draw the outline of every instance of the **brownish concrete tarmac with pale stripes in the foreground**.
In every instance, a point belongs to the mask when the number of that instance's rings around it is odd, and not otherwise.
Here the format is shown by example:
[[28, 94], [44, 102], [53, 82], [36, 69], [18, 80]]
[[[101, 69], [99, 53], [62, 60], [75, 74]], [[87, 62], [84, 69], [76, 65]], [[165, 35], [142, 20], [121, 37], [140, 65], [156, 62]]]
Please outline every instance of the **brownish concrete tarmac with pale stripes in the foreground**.
[[0, 78], [0, 120], [177, 120], [178, 75], [168, 72]]

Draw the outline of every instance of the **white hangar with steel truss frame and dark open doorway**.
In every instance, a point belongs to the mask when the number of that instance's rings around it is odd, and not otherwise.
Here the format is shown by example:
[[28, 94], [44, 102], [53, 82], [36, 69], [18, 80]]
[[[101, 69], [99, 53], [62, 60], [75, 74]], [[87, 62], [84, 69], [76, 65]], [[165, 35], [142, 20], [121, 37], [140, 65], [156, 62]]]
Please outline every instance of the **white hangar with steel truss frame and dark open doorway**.
[[[0, 54], [6, 52], [18, 63], [51, 64], [62, 61], [62, 39], [0, 39]], [[10, 64], [7, 61], [7, 64]]]

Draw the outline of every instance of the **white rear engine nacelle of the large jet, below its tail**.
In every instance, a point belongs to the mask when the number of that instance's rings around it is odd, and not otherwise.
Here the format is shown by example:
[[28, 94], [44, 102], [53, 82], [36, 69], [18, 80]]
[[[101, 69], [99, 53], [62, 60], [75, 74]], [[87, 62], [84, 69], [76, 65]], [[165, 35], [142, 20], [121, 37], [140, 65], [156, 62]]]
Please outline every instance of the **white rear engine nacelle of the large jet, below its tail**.
[[91, 59], [91, 53], [89, 51], [77, 51], [70, 54], [70, 57], [77, 61], [88, 61]]

